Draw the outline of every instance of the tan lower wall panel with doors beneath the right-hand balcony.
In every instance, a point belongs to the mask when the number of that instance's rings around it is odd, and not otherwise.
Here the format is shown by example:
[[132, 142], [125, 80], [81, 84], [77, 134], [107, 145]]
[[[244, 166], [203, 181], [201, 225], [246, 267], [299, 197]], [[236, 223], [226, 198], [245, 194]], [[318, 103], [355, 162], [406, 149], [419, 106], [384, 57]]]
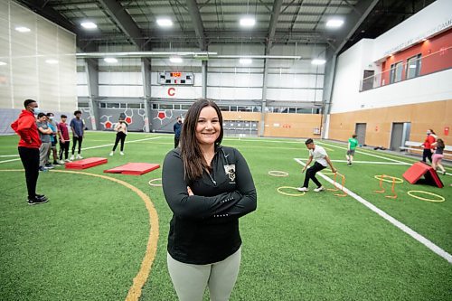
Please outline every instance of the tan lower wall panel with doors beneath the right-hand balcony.
[[[452, 99], [389, 108], [366, 109], [330, 116], [329, 138], [346, 141], [356, 123], [366, 123], [369, 146], [389, 147], [393, 122], [410, 122], [410, 141], [423, 142], [428, 128], [435, 130], [447, 145], [452, 145]], [[449, 134], [444, 128], [449, 127]]]

